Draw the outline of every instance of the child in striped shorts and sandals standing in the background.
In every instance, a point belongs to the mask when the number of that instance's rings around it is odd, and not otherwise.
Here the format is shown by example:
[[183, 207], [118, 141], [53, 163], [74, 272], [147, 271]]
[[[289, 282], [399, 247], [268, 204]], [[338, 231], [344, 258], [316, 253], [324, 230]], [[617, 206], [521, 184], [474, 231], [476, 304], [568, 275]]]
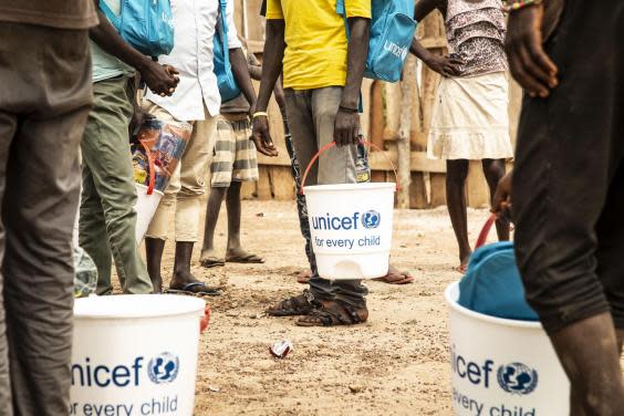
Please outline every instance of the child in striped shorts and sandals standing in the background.
[[[250, 71], [260, 63], [252, 53], [247, 53]], [[240, 242], [240, 188], [243, 181], [258, 180], [258, 160], [251, 136], [249, 102], [240, 96], [222, 103], [217, 124], [217, 142], [210, 171], [212, 173], [210, 196], [206, 210], [206, 231], [201, 248], [201, 266], [212, 268], [227, 262], [262, 263], [260, 257], [248, 253]], [[226, 257], [215, 253], [215, 228], [219, 219], [221, 202], [226, 199], [228, 210], [228, 246]]]

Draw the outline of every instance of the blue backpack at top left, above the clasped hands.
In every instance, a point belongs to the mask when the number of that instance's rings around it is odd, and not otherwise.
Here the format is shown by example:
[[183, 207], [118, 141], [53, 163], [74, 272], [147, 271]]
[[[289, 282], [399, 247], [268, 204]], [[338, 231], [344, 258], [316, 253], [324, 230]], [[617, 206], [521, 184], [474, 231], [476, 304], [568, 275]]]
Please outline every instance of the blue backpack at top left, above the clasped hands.
[[116, 15], [100, 0], [100, 9], [117, 32], [148, 56], [168, 55], [174, 49], [174, 17], [169, 0], [121, 0]]

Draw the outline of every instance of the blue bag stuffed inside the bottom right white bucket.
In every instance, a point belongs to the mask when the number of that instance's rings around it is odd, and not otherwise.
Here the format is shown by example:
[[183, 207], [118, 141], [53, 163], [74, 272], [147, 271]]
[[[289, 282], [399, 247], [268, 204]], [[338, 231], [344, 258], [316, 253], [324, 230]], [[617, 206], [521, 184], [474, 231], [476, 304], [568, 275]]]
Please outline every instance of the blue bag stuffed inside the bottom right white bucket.
[[524, 300], [513, 243], [506, 241], [483, 246], [493, 222], [493, 217], [486, 222], [468, 271], [459, 281], [458, 303], [490, 316], [538, 321], [535, 311]]

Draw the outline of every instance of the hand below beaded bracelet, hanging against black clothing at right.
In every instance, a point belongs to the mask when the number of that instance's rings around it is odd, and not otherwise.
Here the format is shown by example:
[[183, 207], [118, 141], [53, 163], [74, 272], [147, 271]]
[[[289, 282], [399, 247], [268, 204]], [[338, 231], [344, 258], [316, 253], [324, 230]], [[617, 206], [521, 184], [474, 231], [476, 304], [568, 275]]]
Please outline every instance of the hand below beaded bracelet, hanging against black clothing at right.
[[542, 48], [543, 4], [529, 6], [509, 17], [505, 49], [511, 74], [531, 96], [545, 98], [554, 89], [558, 67]]

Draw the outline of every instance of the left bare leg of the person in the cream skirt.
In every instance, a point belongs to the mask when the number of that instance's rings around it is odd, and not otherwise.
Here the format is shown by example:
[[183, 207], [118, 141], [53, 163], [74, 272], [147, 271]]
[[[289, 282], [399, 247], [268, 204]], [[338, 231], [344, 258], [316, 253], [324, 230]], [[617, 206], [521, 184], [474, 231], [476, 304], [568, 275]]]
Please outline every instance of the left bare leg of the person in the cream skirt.
[[459, 261], [468, 264], [472, 250], [468, 241], [468, 214], [466, 211], [466, 178], [468, 176], [468, 160], [446, 162], [446, 200], [453, 230], [459, 246]]

